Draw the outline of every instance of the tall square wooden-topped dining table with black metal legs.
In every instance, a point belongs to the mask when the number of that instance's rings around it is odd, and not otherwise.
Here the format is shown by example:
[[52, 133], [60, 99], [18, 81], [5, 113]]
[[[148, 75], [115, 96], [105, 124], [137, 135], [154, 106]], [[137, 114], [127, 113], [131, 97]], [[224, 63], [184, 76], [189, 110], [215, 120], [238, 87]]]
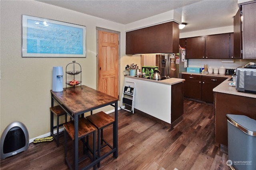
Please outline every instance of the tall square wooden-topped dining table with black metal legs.
[[[104, 106], [113, 106], [115, 109], [115, 122], [113, 124], [113, 149], [97, 158], [88, 166], [93, 166], [113, 153], [114, 158], [118, 157], [118, 98], [102, 93], [88, 86], [74, 86], [64, 88], [62, 92], [51, 92], [51, 107], [56, 101], [62, 109], [74, 120], [74, 170], [78, 170], [78, 118], [86, 112], [91, 112]], [[87, 166], [86, 166], [87, 167]]]

